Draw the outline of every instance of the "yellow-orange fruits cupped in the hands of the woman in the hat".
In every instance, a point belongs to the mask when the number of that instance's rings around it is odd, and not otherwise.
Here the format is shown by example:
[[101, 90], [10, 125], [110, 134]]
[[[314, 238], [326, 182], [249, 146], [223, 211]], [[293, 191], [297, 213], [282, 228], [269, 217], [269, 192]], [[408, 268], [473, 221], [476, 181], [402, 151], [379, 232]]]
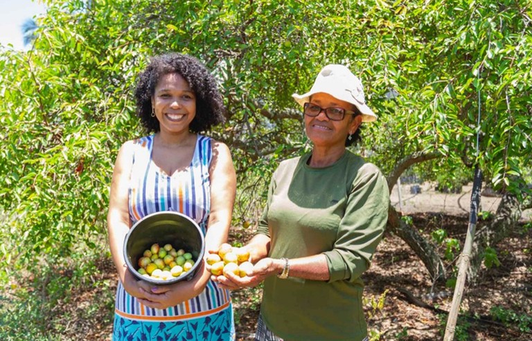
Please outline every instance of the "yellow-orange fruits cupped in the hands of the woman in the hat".
[[216, 276], [233, 273], [245, 277], [253, 273], [253, 264], [249, 259], [249, 252], [242, 248], [233, 248], [229, 243], [223, 243], [218, 252], [210, 253], [206, 262], [211, 266], [211, 273]]

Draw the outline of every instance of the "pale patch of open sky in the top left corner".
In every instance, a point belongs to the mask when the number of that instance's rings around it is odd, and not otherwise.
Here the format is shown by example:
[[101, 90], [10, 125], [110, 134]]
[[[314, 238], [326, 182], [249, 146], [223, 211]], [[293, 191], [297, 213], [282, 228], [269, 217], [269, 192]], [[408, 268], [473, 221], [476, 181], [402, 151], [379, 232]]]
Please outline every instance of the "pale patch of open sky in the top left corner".
[[38, 0], [0, 0], [0, 44], [24, 49], [21, 25], [26, 19], [44, 12], [45, 6]]

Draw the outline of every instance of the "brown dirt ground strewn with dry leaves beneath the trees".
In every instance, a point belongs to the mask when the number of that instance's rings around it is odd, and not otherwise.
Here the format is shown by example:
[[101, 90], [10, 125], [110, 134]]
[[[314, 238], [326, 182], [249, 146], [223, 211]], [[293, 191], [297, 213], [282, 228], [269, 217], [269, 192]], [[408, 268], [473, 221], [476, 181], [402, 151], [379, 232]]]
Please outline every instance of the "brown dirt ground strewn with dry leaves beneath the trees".
[[[463, 241], [468, 225], [470, 186], [465, 186], [460, 194], [441, 194], [429, 184], [420, 185], [421, 192], [411, 194], [411, 185], [402, 185], [402, 203], [398, 201], [398, 189], [391, 195], [391, 202], [397, 210], [413, 217], [414, 225], [427, 238], [436, 228], [445, 228], [449, 237]], [[481, 197], [481, 210], [495, 212], [499, 198]], [[401, 209], [400, 209], [401, 206]], [[510, 238], [496, 246], [501, 266], [484, 269], [477, 284], [466, 282], [461, 306], [459, 330], [455, 340], [498, 341], [532, 340], [532, 229], [524, 228], [531, 220], [531, 212], [523, 212], [522, 228]], [[479, 222], [477, 228], [481, 228]], [[253, 229], [232, 230], [231, 241], [246, 241]], [[443, 248], [440, 254], [443, 255]], [[447, 263], [447, 271], [456, 266], [456, 259]], [[109, 268], [105, 273], [113, 279], [112, 264], [102, 264]], [[420, 259], [407, 244], [387, 231], [378, 246], [371, 268], [363, 275], [366, 283], [364, 296], [368, 300], [365, 307], [369, 331], [380, 334], [380, 340], [433, 341], [443, 340], [443, 330], [447, 322], [446, 312], [450, 310], [453, 291], [445, 284], [434, 284]], [[111, 281], [115, 283], [115, 281]], [[108, 290], [114, 290], [114, 286]], [[260, 303], [260, 291], [252, 296], [251, 291], [232, 293], [237, 320], [237, 340], [253, 340]], [[98, 293], [80, 293], [76, 302], [95, 299]], [[382, 309], [374, 309], [371, 300], [384, 299]], [[89, 304], [89, 302], [85, 302]], [[513, 312], [529, 321], [520, 328], [517, 322], [504, 324], [490, 316], [490, 309]], [[75, 314], [73, 314], [75, 315]], [[506, 314], [508, 315], [508, 314]], [[79, 321], [81, 329], [84, 323]], [[73, 325], [76, 325], [74, 322]], [[112, 325], [109, 322], [92, 324], [91, 329], [76, 331], [76, 335], [87, 335], [85, 340], [110, 340]], [[521, 330], [520, 330], [521, 329]], [[81, 333], [80, 333], [81, 332]], [[73, 339], [74, 340], [74, 339]]]

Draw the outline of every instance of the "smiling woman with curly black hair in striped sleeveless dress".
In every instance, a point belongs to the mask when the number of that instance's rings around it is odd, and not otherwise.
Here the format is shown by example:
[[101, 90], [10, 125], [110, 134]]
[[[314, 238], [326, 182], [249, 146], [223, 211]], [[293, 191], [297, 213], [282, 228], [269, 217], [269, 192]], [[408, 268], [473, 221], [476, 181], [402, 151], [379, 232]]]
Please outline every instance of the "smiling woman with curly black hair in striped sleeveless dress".
[[154, 286], [125, 268], [122, 253], [132, 224], [166, 210], [194, 219], [206, 248], [227, 240], [236, 193], [231, 154], [199, 134], [222, 122], [222, 96], [197, 59], [170, 53], [152, 59], [135, 97], [149, 135], [122, 145], [113, 172], [107, 225], [120, 279], [113, 340], [234, 340], [229, 292], [204, 266], [189, 282]]

